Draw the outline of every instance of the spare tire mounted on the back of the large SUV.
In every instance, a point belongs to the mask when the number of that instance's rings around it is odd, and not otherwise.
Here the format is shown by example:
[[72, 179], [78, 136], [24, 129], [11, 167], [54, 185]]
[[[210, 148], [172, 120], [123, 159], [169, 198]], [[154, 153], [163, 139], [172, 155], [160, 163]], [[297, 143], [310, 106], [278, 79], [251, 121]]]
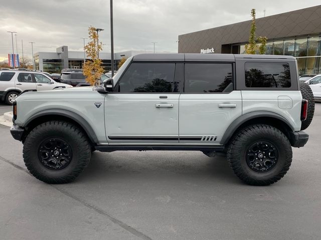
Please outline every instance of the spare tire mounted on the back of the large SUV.
[[313, 114], [314, 114], [314, 96], [313, 96], [313, 92], [311, 90], [311, 87], [304, 83], [304, 82], [300, 82], [300, 90], [301, 90], [301, 94], [302, 94], [302, 98], [305, 100], [308, 100], [307, 103], [307, 117], [304, 121], [302, 121], [301, 123], [301, 130], [306, 129], [313, 118]]

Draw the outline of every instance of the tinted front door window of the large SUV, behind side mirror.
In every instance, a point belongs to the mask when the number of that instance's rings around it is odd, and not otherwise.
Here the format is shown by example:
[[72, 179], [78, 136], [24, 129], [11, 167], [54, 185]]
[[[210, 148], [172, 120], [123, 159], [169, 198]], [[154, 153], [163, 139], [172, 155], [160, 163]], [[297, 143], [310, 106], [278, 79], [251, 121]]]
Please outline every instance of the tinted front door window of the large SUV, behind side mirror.
[[120, 92], [173, 92], [175, 63], [131, 63], [118, 83]]

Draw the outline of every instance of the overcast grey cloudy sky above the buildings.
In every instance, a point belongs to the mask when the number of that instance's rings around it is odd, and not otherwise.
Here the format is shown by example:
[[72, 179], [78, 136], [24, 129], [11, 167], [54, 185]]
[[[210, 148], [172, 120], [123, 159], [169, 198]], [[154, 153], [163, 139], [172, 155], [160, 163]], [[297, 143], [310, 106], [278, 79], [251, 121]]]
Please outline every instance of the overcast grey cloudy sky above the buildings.
[[[17, 31], [18, 53], [56, 51], [61, 45], [83, 50], [88, 26], [103, 28], [99, 39], [110, 52], [109, 0], [0, 0], [0, 61], [12, 52]], [[114, 0], [114, 51], [177, 52], [178, 35], [320, 4], [320, 0]], [[14, 36], [14, 47], [16, 40]]]

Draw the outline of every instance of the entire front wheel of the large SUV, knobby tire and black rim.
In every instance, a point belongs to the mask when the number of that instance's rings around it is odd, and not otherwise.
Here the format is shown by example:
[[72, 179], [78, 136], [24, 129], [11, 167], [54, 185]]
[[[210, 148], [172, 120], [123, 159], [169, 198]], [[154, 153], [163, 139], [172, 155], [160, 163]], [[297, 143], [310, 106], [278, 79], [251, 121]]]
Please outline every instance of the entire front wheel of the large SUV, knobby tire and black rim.
[[91, 146], [86, 135], [65, 121], [48, 121], [26, 137], [23, 157], [36, 178], [47, 183], [73, 181], [88, 165]]

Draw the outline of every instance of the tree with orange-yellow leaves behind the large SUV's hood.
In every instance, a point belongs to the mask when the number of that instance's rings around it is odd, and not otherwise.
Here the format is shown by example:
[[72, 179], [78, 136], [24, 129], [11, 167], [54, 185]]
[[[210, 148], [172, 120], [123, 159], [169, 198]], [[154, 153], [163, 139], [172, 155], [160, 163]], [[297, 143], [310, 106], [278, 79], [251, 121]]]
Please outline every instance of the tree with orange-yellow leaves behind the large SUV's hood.
[[86, 60], [83, 66], [83, 73], [86, 76], [86, 81], [91, 85], [99, 83], [100, 75], [104, 72], [102, 61], [98, 58], [97, 51], [102, 50], [102, 42], [98, 42], [98, 34], [96, 28], [88, 27], [89, 42], [85, 45], [87, 56], [91, 59]]

